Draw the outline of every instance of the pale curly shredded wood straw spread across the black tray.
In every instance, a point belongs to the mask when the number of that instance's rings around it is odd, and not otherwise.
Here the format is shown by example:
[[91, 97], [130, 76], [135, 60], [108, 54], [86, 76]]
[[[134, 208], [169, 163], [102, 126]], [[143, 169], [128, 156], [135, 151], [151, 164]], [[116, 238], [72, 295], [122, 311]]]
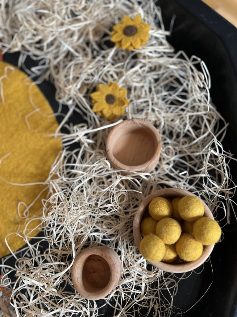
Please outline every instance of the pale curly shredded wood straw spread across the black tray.
[[[214, 217], [229, 222], [235, 192], [228, 166], [232, 154], [222, 147], [227, 123], [210, 101], [204, 62], [173, 52], [153, 0], [141, 6], [136, 0], [3, 0], [0, 7], [3, 49], [20, 50], [19, 66], [37, 75], [36, 83], [51, 80], [56, 99], [69, 107], [55, 133], [64, 151], [45, 182], [50, 195], [42, 202], [42, 233], [30, 243], [26, 226], [21, 234], [26, 247], [15, 252], [15, 267], [7, 266], [9, 257], [2, 259], [2, 281], [13, 290], [12, 309], [21, 317], [94, 317], [107, 305], [111, 316], [169, 316], [179, 281], [195, 272], [177, 278], [149, 265], [134, 245], [132, 223], [142, 200], [164, 187], [197, 194]], [[146, 46], [131, 52], [109, 47], [113, 25], [137, 13], [151, 25]], [[27, 69], [27, 55], [39, 59], [39, 66]], [[128, 92], [122, 119], [147, 120], [161, 134], [160, 161], [150, 174], [122, 176], [106, 158], [106, 137], [121, 118], [109, 122], [96, 115], [89, 96], [110, 81]], [[87, 124], [68, 123], [73, 111]], [[63, 125], [68, 133], [60, 132]], [[81, 249], [101, 244], [118, 252], [124, 271], [105, 300], [88, 301], [75, 292], [70, 269]], [[205, 269], [213, 274], [207, 263]], [[16, 283], [8, 278], [11, 272]]]

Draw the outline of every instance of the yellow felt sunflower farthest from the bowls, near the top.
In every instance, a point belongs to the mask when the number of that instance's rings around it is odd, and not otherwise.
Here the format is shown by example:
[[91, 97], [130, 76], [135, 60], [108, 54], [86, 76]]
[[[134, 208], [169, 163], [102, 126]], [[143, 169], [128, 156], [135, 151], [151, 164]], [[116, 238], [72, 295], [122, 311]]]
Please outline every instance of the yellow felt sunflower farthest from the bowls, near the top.
[[122, 49], [139, 49], [149, 39], [149, 29], [150, 25], [141, 21], [140, 14], [134, 19], [124, 16], [123, 22], [113, 27], [111, 41], [116, 42], [115, 46]]

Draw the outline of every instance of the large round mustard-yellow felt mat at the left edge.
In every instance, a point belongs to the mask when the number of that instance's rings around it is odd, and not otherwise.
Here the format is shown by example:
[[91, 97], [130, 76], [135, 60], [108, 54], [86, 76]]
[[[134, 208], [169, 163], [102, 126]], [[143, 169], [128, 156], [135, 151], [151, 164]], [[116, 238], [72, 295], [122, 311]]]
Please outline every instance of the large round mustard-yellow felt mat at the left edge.
[[[36, 85], [18, 68], [0, 62], [0, 257], [9, 253], [4, 241], [13, 232], [30, 232], [40, 221], [26, 223], [42, 212], [43, 185], [18, 186], [11, 183], [27, 184], [44, 182], [51, 165], [62, 149], [60, 140], [47, 137], [54, 133], [58, 123], [53, 111]], [[51, 115], [49, 117], [49, 115]], [[20, 204], [19, 210], [17, 206]], [[35, 236], [34, 231], [31, 236]], [[12, 250], [21, 248], [25, 242], [17, 235], [10, 235], [7, 242]]]

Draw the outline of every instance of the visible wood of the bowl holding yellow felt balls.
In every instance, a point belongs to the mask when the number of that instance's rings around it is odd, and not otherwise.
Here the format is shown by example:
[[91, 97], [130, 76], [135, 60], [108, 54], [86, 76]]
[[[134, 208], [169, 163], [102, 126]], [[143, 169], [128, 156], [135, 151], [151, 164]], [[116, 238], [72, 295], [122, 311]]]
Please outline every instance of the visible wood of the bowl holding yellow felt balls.
[[[140, 204], [140, 206], [137, 209], [137, 212], [135, 214], [134, 221], [133, 221], [133, 236], [134, 236], [134, 240], [135, 240], [135, 243], [136, 243], [138, 249], [139, 249], [140, 242], [142, 240], [142, 236], [140, 233], [140, 224], [141, 224], [141, 221], [143, 219], [144, 213], [148, 210], [148, 204], [150, 203], [150, 201], [155, 197], [165, 197], [165, 198], [172, 197], [172, 198], [174, 198], [174, 197], [184, 197], [184, 196], [197, 197], [196, 195], [192, 194], [191, 192], [185, 191], [183, 189], [164, 188], [164, 189], [161, 189], [159, 191], [155, 191], [154, 193], [152, 193], [151, 195], [149, 195], [148, 197], [146, 197], [143, 200], [143, 202]], [[202, 202], [202, 203], [204, 204], [204, 215], [206, 217], [214, 219], [208, 206], [204, 202]], [[214, 245], [215, 244], [211, 244], [211, 245], [204, 247], [202, 255], [196, 261], [185, 262], [185, 263], [181, 263], [181, 264], [172, 264], [172, 263], [168, 264], [165, 262], [150, 262], [150, 263], [152, 265], [154, 265], [156, 268], [160, 268], [161, 270], [164, 270], [166, 272], [171, 272], [171, 273], [188, 272], [188, 271], [191, 271], [191, 270], [197, 268], [198, 266], [202, 265], [206, 261], [206, 259], [210, 256], [210, 254], [214, 248]]]

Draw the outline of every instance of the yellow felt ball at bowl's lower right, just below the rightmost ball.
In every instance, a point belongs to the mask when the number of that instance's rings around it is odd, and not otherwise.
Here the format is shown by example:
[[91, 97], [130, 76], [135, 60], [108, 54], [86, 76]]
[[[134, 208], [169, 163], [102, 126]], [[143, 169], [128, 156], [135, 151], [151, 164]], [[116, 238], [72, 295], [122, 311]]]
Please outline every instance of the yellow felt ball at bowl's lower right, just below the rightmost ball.
[[180, 259], [185, 261], [195, 261], [203, 253], [203, 245], [194, 236], [184, 233], [175, 244], [176, 251]]

